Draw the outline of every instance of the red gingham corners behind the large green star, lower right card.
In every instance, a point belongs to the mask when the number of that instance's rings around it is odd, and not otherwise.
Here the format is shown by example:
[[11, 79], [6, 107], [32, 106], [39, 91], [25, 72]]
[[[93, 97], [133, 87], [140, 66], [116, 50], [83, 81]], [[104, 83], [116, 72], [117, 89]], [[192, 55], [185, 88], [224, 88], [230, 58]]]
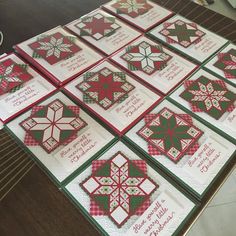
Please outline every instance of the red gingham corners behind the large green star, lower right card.
[[[150, 122], [151, 120], [153, 120], [155, 118], [156, 114], [148, 114], [144, 117], [144, 121], [147, 124], [148, 122]], [[179, 116], [181, 118], [183, 118], [184, 120], [188, 121], [190, 124], [193, 124], [193, 120], [192, 117], [188, 114], [179, 114]], [[199, 144], [196, 142], [187, 152], [187, 155], [193, 155], [199, 148]], [[148, 144], [148, 154], [151, 156], [156, 156], [156, 155], [161, 155], [161, 152], [155, 148], [153, 145]]]

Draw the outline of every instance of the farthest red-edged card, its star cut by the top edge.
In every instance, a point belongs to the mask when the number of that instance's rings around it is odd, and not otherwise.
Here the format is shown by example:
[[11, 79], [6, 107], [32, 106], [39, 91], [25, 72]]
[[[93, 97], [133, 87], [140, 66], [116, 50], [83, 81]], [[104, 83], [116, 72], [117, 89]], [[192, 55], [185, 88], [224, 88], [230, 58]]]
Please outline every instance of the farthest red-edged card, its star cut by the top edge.
[[145, 32], [174, 14], [148, 0], [113, 0], [102, 8]]

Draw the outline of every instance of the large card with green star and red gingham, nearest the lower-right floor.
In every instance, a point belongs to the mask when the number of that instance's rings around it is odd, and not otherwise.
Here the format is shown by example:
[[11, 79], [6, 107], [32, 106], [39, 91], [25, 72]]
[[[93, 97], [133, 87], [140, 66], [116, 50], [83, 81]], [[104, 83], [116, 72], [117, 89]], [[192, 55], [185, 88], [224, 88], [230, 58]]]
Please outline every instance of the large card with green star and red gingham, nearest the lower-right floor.
[[168, 100], [146, 114], [125, 139], [199, 199], [236, 150], [233, 143]]

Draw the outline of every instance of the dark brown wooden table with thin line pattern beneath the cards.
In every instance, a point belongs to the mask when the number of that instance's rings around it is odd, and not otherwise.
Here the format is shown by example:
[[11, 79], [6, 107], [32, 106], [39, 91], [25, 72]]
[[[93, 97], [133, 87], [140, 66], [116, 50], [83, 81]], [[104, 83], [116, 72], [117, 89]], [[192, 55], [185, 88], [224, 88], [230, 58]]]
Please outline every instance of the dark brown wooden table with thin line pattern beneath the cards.
[[[12, 46], [57, 25], [64, 25], [94, 10], [107, 0], [0, 0], [0, 54]], [[157, 3], [236, 42], [236, 22], [189, 0], [156, 0]], [[228, 163], [201, 208], [186, 223], [183, 234], [206, 207], [233, 169]], [[58, 190], [6, 130], [0, 131], [0, 235], [96, 236], [99, 233]]]

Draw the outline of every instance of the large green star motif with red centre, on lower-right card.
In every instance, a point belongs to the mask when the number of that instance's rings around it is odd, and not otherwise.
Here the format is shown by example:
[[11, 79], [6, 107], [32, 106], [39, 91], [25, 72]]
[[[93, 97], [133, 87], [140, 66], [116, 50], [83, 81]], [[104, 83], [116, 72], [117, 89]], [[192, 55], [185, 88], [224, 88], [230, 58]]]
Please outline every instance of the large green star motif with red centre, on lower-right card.
[[165, 107], [137, 134], [170, 160], [177, 162], [196, 144], [203, 132]]

